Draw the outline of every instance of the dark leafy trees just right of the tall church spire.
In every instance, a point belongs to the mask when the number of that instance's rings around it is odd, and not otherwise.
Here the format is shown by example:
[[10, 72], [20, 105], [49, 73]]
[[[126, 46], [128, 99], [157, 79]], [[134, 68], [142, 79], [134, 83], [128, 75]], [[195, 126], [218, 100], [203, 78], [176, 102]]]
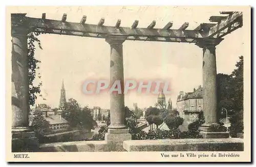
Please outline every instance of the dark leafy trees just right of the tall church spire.
[[70, 98], [64, 104], [61, 117], [65, 118], [73, 128], [94, 129], [97, 126], [97, 123], [93, 120], [91, 110], [87, 106], [81, 109], [78, 102], [73, 98]]

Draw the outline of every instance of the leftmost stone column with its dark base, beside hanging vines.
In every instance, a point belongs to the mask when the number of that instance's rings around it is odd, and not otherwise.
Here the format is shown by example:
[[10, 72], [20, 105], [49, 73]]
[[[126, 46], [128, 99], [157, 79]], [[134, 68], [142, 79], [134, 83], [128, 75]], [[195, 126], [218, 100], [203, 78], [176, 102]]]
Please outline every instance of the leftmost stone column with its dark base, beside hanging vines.
[[29, 129], [29, 69], [27, 29], [12, 27], [12, 151], [27, 152], [37, 147]]

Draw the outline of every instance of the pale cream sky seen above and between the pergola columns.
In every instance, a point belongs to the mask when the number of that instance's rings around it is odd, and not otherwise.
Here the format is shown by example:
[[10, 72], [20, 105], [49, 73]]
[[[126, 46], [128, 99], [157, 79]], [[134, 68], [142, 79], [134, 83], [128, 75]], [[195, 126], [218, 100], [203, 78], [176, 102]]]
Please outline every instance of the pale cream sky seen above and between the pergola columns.
[[[60, 20], [67, 13], [67, 21], [80, 22], [87, 15], [87, 23], [97, 24], [101, 17], [104, 25], [114, 26], [121, 19], [120, 26], [130, 27], [134, 20], [139, 20], [138, 27], [147, 27], [153, 20], [155, 28], [162, 28], [173, 21], [172, 29], [179, 29], [184, 22], [189, 22], [187, 30], [195, 29], [200, 23], [209, 22], [212, 15], [220, 15], [220, 9], [205, 7], [49, 7], [47, 19]], [[40, 18], [45, 13], [43, 8], [27, 11], [28, 17]], [[225, 36], [216, 47], [217, 73], [230, 74], [243, 54], [243, 27]], [[41, 93], [46, 100], [38, 97], [36, 103], [46, 103], [58, 107], [62, 79], [66, 89], [66, 98], [76, 99], [81, 106], [110, 107], [110, 95], [86, 95], [82, 92], [84, 80], [89, 78], [109, 79], [110, 45], [104, 39], [73, 37], [65, 35], [40, 35], [42, 50], [37, 47], [36, 59], [40, 60], [37, 73], [42, 81]], [[170, 98], [176, 107], [180, 91], [191, 92], [202, 85], [201, 48], [191, 43], [125, 41], [123, 43], [124, 78], [136, 80], [154, 80], [161, 78], [170, 81]], [[125, 105], [133, 107], [133, 103], [144, 108], [157, 102], [157, 95], [137, 94], [125, 95]]]

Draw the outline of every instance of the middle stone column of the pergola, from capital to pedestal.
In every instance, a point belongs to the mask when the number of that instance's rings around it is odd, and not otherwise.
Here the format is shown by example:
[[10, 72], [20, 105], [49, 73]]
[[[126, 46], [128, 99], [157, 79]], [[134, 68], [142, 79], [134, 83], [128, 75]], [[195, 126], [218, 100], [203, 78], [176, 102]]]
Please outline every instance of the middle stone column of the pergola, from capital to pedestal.
[[105, 39], [110, 44], [110, 86], [116, 80], [120, 80], [122, 93], [110, 94], [110, 125], [108, 133], [105, 134], [105, 141], [108, 142], [109, 151], [124, 151], [123, 141], [132, 140], [129, 129], [124, 125], [124, 78], [123, 78], [123, 49], [125, 41], [122, 35], [108, 35]]

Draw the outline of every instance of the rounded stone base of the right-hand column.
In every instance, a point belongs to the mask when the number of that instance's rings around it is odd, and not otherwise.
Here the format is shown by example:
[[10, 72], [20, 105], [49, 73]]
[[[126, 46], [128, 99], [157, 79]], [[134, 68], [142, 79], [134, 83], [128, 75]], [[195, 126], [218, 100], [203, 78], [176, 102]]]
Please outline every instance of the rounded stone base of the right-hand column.
[[228, 138], [229, 132], [225, 126], [217, 123], [203, 124], [199, 127], [200, 134], [203, 138]]

